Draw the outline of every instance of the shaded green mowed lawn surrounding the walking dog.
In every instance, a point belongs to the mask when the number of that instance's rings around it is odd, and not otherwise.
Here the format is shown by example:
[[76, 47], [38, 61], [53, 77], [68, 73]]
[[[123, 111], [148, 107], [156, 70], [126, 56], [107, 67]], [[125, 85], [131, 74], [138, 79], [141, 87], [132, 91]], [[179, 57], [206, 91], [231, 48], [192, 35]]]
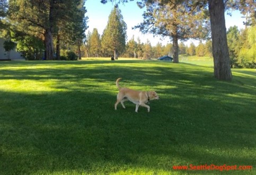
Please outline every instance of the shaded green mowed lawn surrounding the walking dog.
[[[151, 112], [116, 102], [155, 90]], [[0, 62], [0, 174], [256, 174], [256, 73], [188, 63]], [[252, 170], [174, 170], [174, 165]]]

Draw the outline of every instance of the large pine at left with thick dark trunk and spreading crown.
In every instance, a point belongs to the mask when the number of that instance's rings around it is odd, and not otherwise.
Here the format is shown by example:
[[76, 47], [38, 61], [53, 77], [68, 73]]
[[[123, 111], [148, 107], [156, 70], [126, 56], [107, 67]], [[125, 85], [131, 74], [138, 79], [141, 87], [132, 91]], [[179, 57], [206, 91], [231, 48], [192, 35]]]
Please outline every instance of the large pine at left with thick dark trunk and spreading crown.
[[78, 30], [75, 28], [81, 25], [78, 23], [74, 25], [73, 21], [81, 21], [80, 16], [84, 17], [84, 14], [81, 15], [84, 11], [78, 9], [83, 7], [82, 1], [9, 0], [9, 17], [17, 30], [41, 38], [45, 43], [45, 58], [52, 60], [54, 59], [53, 34], [56, 29], [67, 26], [69, 22], [72, 33], [77, 33]]

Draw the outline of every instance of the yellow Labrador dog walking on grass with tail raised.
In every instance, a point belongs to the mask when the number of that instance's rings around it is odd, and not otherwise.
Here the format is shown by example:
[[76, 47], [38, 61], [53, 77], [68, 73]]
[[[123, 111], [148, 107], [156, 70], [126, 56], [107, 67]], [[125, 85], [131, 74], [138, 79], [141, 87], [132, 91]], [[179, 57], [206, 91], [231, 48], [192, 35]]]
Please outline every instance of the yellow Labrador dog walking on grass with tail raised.
[[119, 81], [121, 78], [118, 78], [116, 81], [116, 85], [119, 89], [119, 93], [117, 94], [117, 102], [114, 104], [114, 109], [117, 110], [117, 105], [121, 103], [122, 107], [125, 108], [123, 102], [130, 101], [136, 104], [135, 112], [138, 112], [139, 105], [147, 108], [149, 112], [150, 107], [146, 105], [149, 100], [159, 99], [159, 96], [155, 91], [138, 91], [129, 88], [121, 88], [119, 86]]

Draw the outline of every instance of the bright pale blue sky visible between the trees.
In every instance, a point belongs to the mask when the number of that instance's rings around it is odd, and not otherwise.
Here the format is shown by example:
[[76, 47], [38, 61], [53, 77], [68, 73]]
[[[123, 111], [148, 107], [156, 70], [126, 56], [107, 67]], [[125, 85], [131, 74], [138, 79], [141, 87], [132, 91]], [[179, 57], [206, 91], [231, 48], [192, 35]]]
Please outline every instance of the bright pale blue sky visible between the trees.
[[[114, 7], [114, 4], [107, 3], [102, 4], [100, 3], [100, 0], [87, 0], [85, 2], [85, 7], [87, 10], [86, 15], [89, 17], [89, 29], [86, 30], [87, 32], [90, 30], [93, 31], [94, 28], [98, 29], [99, 34], [103, 33], [103, 30], [105, 29], [105, 26], [107, 26], [108, 23], [108, 17], [109, 14]], [[144, 9], [140, 9], [136, 1], [132, 1], [126, 4], [119, 4], [119, 8], [121, 10], [123, 20], [127, 24], [127, 39], [130, 40], [133, 35], [135, 36], [135, 39], [138, 37], [142, 42], [146, 42], [147, 39], [151, 42], [152, 45], [156, 45], [157, 42], [162, 42], [162, 45], [165, 45], [166, 43], [170, 43], [169, 38], [165, 38], [164, 40], [161, 40], [160, 37], [153, 37], [152, 34], [142, 34], [139, 32], [138, 29], [132, 30], [131, 27], [134, 27], [135, 25], [139, 24], [140, 22], [143, 22], [142, 14], [145, 11]], [[232, 16], [226, 15], [226, 28], [228, 29], [230, 26], [238, 26], [239, 29], [244, 28], [242, 15], [239, 11], [232, 12]], [[197, 41], [190, 40], [186, 42], [185, 44], [190, 44], [190, 42], [194, 42], [197, 44]]]

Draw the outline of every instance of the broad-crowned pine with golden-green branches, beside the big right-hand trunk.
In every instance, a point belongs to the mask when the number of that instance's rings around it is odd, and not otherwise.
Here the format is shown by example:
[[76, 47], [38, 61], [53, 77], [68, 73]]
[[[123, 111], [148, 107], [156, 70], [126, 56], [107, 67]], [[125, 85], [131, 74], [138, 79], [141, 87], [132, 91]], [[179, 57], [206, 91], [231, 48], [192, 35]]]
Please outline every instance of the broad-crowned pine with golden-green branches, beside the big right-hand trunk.
[[[158, 1], [147, 1], [139, 3], [141, 7], [146, 6], [144, 21], [135, 28], [143, 33], [153, 33], [170, 37], [173, 42], [173, 62], [179, 62], [178, 40], [186, 41], [189, 38], [206, 38], [209, 32], [209, 23], [205, 20], [207, 16], [203, 11], [187, 11], [183, 3], [159, 3]], [[200, 31], [200, 32], [199, 32]]]

